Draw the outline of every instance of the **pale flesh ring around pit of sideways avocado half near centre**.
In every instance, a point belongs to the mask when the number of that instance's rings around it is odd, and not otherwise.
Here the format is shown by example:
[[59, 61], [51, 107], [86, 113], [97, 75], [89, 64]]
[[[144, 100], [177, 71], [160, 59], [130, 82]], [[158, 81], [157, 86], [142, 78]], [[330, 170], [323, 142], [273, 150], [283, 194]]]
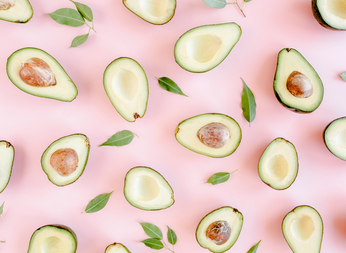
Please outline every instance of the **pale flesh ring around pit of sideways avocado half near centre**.
[[[221, 148], [208, 147], [198, 138], [198, 131], [210, 123], [221, 123], [228, 128], [229, 139]], [[175, 129], [175, 138], [185, 148], [209, 157], [226, 157], [232, 154], [242, 139], [239, 124], [231, 117], [219, 113], [206, 113], [194, 116], [179, 123]]]

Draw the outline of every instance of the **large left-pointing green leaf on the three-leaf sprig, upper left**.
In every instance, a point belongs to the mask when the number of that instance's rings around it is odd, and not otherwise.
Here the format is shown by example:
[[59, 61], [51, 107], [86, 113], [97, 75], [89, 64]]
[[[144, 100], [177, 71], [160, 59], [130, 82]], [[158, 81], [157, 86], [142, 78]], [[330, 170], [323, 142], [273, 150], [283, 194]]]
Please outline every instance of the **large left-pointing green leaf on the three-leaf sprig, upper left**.
[[71, 8], [62, 8], [47, 14], [61, 25], [77, 27], [85, 24], [82, 14]]

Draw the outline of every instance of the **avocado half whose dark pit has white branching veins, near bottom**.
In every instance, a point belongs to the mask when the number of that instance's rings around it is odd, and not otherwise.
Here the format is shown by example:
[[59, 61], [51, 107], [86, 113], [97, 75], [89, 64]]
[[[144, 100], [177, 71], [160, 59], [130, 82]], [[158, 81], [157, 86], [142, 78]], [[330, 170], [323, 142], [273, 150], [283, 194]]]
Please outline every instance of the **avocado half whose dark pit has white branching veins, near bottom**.
[[220, 207], [201, 219], [196, 229], [196, 239], [204, 249], [222, 253], [235, 244], [242, 226], [242, 213], [230, 206]]

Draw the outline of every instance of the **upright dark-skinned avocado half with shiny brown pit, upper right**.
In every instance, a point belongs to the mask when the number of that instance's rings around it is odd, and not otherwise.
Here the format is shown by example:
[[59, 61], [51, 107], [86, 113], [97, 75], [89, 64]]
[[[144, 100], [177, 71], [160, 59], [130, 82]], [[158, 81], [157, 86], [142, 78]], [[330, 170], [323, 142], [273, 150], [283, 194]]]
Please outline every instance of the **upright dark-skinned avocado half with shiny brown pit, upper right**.
[[295, 49], [284, 48], [277, 56], [274, 93], [286, 109], [311, 113], [323, 98], [323, 85], [315, 69]]

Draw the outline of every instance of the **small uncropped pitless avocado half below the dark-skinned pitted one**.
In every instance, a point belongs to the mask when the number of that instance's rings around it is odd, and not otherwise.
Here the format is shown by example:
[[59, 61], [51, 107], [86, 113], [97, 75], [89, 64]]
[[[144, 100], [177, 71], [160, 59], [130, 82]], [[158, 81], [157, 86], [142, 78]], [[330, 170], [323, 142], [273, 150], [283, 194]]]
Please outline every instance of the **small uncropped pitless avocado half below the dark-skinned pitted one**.
[[298, 174], [298, 155], [293, 144], [276, 138], [264, 150], [258, 162], [258, 175], [276, 190], [290, 187]]

